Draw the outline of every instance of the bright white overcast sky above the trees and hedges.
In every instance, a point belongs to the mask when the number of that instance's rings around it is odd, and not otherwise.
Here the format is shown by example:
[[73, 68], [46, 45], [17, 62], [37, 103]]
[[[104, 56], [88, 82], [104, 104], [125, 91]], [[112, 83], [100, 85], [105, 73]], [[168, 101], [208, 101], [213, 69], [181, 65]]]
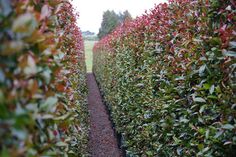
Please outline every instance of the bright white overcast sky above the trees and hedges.
[[79, 12], [78, 25], [81, 30], [98, 33], [106, 10], [114, 10], [116, 13], [128, 10], [135, 18], [153, 8], [154, 4], [162, 2], [167, 0], [73, 0], [72, 4]]

